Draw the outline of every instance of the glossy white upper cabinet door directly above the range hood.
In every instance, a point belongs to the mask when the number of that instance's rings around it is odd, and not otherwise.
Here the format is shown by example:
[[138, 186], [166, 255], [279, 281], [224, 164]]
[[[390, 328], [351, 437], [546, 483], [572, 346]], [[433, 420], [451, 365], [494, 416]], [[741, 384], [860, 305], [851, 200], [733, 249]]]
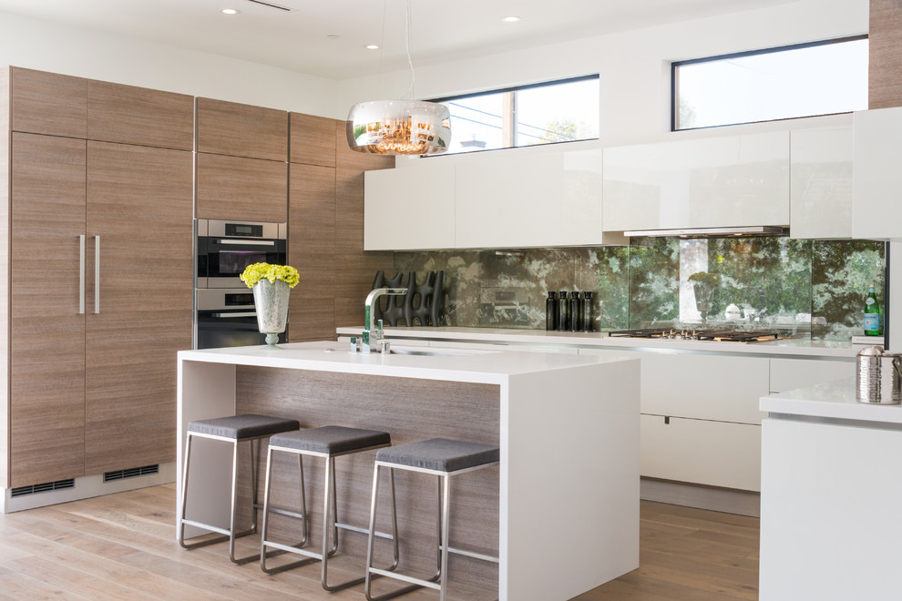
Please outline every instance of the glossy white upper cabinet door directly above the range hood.
[[789, 224], [789, 132], [604, 149], [604, 229]]

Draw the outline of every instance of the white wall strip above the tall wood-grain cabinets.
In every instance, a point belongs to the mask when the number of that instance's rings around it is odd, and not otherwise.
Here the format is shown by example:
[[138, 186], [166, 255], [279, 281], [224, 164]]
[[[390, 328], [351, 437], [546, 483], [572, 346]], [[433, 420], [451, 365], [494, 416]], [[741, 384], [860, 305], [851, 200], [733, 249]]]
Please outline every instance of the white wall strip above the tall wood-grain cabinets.
[[326, 117], [341, 112], [331, 79], [4, 12], [0, 65]]

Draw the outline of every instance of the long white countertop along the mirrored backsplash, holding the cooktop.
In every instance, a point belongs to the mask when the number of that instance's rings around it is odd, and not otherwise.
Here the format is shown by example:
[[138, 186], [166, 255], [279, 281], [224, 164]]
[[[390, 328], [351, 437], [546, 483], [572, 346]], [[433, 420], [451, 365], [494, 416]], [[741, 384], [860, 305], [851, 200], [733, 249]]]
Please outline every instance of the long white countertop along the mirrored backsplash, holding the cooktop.
[[[359, 335], [363, 327], [338, 328], [339, 336]], [[607, 332], [568, 332], [518, 330], [512, 328], [385, 328], [392, 338], [433, 341], [471, 341], [503, 344], [544, 344], [555, 346], [599, 347], [634, 351], [692, 351], [715, 353], [766, 354], [787, 357], [835, 357], [853, 359], [863, 347], [851, 342], [784, 339], [769, 342], [670, 341], [608, 336]]]

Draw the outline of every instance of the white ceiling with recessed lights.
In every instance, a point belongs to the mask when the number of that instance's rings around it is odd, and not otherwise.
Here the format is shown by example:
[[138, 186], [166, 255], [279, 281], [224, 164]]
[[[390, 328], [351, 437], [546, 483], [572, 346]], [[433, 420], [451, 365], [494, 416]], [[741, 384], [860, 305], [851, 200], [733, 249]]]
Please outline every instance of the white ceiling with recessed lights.
[[[406, 66], [406, 0], [261, 1], [294, 10], [251, 0], [0, 0], [0, 11], [332, 79]], [[791, 1], [411, 0], [412, 52], [425, 65]], [[522, 21], [502, 23], [507, 15]]]

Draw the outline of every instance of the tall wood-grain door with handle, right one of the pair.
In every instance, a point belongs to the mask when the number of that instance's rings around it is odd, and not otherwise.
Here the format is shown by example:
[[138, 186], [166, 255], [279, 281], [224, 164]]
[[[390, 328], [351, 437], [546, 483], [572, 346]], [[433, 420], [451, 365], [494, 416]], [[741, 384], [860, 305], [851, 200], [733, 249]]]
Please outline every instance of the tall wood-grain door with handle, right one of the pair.
[[175, 460], [176, 351], [191, 347], [192, 167], [190, 152], [87, 143], [87, 474]]

